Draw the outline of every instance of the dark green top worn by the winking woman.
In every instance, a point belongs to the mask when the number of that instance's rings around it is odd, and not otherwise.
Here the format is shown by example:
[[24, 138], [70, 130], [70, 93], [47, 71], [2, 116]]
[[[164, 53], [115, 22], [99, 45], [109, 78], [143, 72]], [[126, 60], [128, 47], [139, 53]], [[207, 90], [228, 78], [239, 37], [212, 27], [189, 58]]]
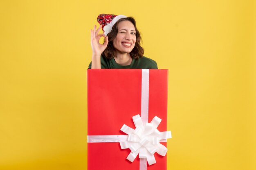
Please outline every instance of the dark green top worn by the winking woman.
[[[92, 62], [89, 64], [89, 68], [92, 68]], [[101, 68], [137, 68], [137, 69], [157, 69], [157, 63], [147, 57], [141, 57], [139, 59], [132, 59], [130, 65], [119, 65], [115, 59], [107, 59], [101, 55]]]

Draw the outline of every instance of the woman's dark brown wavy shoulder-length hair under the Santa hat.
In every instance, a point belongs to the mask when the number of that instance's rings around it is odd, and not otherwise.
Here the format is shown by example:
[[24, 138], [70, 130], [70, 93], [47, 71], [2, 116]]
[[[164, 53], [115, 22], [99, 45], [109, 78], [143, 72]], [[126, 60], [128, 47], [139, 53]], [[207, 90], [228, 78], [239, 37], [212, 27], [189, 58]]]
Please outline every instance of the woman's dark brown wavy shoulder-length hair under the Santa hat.
[[135, 42], [134, 48], [130, 52], [130, 56], [134, 59], [138, 59], [139, 57], [143, 56], [144, 49], [140, 46], [142, 39], [140, 37], [139, 31], [136, 28], [136, 21], [133, 17], [121, 18], [112, 26], [112, 30], [107, 35], [108, 36], [108, 45], [107, 45], [107, 48], [103, 51], [103, 54], [107, 59], [112, 59], [114, 57], [115, 48], [113, 46], [113, 39], [115, 39], [115, 37], [117, 36], [118, 24], [119, 24], [119, 22], [122, 22], [122, 21], [130, 21], [135, 27], [136, 42]]

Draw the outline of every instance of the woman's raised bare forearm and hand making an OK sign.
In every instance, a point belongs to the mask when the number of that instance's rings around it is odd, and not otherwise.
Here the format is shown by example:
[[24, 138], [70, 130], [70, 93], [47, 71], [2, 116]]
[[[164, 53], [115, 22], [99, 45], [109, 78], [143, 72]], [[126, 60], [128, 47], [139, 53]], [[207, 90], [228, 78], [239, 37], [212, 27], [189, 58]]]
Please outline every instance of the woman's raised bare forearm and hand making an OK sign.
[[[91, 30], [91, 46], [92, 46], [92, 68], [101, 68], [101, 53], [107, 48], [108, 37], [104, 34], [99, 34], [102, 26], [96, 30], [96, 25], [94, 25], [93, 30]], [[99, 39], [105, 37], [104, 44], [99, 43]]]

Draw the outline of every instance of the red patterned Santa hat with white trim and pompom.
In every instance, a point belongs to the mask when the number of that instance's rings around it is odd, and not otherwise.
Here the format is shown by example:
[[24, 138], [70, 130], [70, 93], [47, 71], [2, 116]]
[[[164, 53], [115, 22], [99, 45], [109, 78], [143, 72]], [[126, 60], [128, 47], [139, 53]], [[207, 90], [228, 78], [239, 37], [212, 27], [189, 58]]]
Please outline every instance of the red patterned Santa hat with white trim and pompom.
[[121, 18], [126, 18], [124, 15], [114, 14], [99, 14], [97, 21], [102, 25], [102, 30], [105, 35], [108, 35], [112, 30], [112, 26]]

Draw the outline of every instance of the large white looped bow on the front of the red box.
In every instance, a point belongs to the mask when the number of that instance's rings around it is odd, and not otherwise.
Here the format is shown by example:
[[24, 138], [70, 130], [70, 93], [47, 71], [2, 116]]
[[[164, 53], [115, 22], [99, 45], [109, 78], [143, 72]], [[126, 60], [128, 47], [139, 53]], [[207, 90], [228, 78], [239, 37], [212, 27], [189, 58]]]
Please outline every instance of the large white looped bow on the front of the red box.
[[139, 115], [133, 116], [132, 120], [136, 129], [132, 129], [126, 124], [121, 128], [121, 131], [128, 134], [128, 139], [120, 142], [122, 149], [130, 148], [131, 152], [127, 159], [131, 162], [139, 154], [139, 158], [147, 159], [148, 165], [156, 163], [154, 154], [157, 152], [159, 155], [165, 156], [167, 148], [159, 142], [164, 142], [166, 139], [171, 138], [171, 131], [159, 132], [157, 126], [162, 121], [155, 116], [150, 123], [145, 126]]

